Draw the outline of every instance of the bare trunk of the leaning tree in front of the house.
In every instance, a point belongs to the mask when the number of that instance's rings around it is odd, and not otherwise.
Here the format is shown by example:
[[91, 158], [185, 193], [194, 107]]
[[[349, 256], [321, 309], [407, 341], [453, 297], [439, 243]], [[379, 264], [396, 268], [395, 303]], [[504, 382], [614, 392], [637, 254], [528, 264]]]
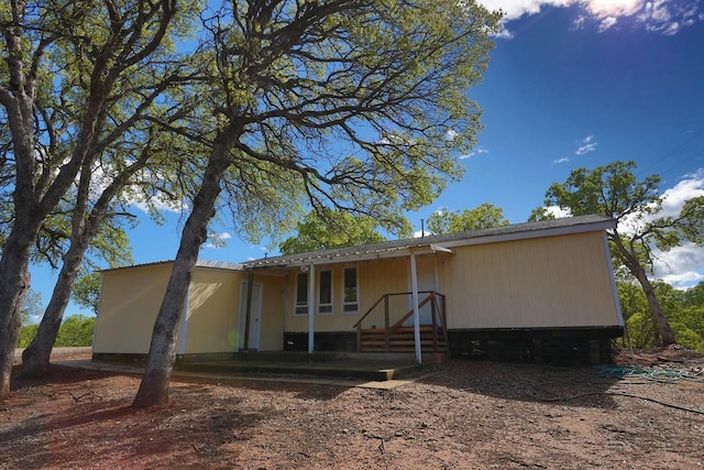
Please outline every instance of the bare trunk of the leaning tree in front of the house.
[[208, 223], [215, 216], [220, 182], [230, 166], [229, 153], [235, 142], [234, 136], [226, 138], [223, 134], [219, 140], [212, 149], [200, 189], [194, 199], [190, 216], [182, 232], [180, 245], [166, 294], [154, 323], [144, 375], [132, 403], [135, 407], [160, 406], [168, 403], [168, 385], [176, 361], [178, 320], [186, 306], [198, 252], [208, 237]]

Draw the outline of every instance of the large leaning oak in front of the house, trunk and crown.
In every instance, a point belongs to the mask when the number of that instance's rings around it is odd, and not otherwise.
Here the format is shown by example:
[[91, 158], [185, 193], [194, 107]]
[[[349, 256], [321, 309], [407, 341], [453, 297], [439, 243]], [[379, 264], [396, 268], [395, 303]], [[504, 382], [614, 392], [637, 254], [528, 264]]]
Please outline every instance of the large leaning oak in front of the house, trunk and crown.
[[178, 319], [231, 168], [283, 181], [304, 198], [284, 201], [294, 207], [400, 223], [461, 174], [457, 156], [481, 129], [468, 88], [499, 20], [475, 1], [435, 0], [231, 0], [201, 18], [208, 165], [135, 406], [168, 401]]

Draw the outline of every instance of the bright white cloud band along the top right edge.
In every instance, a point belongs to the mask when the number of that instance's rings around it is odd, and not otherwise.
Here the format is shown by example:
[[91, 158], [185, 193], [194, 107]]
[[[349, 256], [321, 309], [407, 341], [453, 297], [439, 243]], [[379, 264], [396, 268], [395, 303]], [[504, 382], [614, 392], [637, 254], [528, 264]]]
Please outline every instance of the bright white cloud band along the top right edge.
[[[503, 10], [504, 21], [540, 13], [544, 8], [579, 7], [581, 12], [572, 23], [573, 29], [585, 28], [587, 20], [596, 23], [600, 32], [610, 30], [619, 19], [632, 19], [646, 31], [667, 35], [676, 34], [682, 28], [704, 21], [697, 0], [480, 0], [490, 10]], [[512, 39], [504, 28], [497, 37]]]

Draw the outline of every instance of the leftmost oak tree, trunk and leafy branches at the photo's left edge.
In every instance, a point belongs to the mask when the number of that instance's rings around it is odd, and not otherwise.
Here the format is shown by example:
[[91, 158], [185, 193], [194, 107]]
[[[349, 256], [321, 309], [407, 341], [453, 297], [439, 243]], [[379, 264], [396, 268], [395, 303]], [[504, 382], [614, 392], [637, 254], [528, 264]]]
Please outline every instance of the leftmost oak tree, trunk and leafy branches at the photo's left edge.
[[67, 192], [88, 179], [79, 175], [94, 172], [96, 159], [157, 102], [163, 85], [140, 87], [133, 80], [164, 45], [175, 14], [176, 0], [29, 0], [0, 7], [0, 119], [11, 151], [2, 163], [12, 166], [2, 178], [11, 220], [0, 258], [0, 396], [10, 392], [38, 233]]

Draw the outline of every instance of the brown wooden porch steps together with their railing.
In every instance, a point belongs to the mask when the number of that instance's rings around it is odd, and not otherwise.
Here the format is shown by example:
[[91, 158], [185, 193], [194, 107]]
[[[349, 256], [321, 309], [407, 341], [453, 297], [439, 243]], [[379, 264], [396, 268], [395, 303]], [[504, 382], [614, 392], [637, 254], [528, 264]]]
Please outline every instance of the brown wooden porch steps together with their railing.
[[[422, 292], [419, 294], [428, 294], [422, 302], [418, 304], [418, 308], [422, 308], [430, 303], [431, 324], [420, 325], [420, 346], [421, 350], [429, 352], [447, 352], [448, 346], [448, 327], [444, 295], [437, 292]], [[360, 352], [414, 352], [415, 351], [415, 328], [413, 326], [404, 326], [406, 321], [414, 315], [411, 308], [399, 320], [389, 325], [389, 296], [404, 295], [410, 293], [397, 293], [383, 295], [370, 308], [360, 320], [354, 324], [356, 328], [358, 351]], [[438, 299], [442, 302], [438, 303]], [[384, 328], [362, 328], [364, 319], [384, 300]]]

